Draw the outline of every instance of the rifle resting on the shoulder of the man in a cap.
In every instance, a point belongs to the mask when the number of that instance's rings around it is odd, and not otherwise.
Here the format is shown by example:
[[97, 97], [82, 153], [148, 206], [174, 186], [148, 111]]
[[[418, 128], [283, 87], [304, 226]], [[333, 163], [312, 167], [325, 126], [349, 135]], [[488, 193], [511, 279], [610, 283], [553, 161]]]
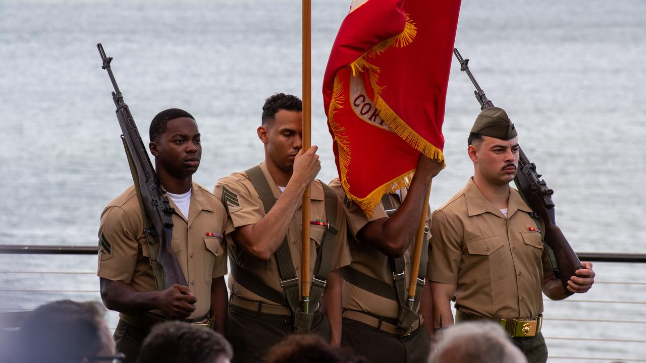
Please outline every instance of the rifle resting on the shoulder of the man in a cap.
[[[480, 109], [488, 109], [494, 107], [494, 103], [485, 96], [485, 91], [480, 88], [475, 81], [474, 75], [469, 70], [469, 59], [463, 59], [457, 48], [453, 48], [453, 53], [457, 60], [460, 62], [460, 70], [466, 72], [467, 76], [475, 86], [475, 99], [480, 103]], [[536, 165], [529, 161], [525, 152], [520, 147], [518, 148], [519, 160], [516, 178], [514, 183], [520, 192], [523, 200], [534, 211], [532, 218], [540, 218], [543, 221], [543, 239], [554, 253], [554, 260], [556, 260], [555, 270], [556, 276], [561, 278], [563, 289], [568, 295], [572, 295], [567, 289], [567, 282], [570, 276], [576, 276], [574, 271], [583, 269], [579, 257], [572, 251], [572, 247], [568, 244], [567, 239], [563, 236], [563, 232], [556, 225], [556, 217], [554, 216], [554, 202], [552, 202], [552, 194], [554, 191], [547, 187], [545, 180], [541, 180], [541, 174], [536, 172]], [[550, 254], [552, 253], [550, 251]], [[552, 258], [552, 256], [550, 256]], [[554, 266], [552, 266], [554, 268]]]

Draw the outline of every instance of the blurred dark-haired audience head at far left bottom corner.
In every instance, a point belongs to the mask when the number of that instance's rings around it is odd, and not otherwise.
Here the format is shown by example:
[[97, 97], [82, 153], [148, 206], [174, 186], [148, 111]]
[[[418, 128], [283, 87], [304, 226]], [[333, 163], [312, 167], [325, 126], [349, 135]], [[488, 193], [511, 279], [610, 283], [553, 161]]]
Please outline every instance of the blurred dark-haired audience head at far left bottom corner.
[[26, 362], [71, 362], [99, 353], [105, 342], [103, 309], [96, 302], [61, 300], [32, 311], [20, 328]]

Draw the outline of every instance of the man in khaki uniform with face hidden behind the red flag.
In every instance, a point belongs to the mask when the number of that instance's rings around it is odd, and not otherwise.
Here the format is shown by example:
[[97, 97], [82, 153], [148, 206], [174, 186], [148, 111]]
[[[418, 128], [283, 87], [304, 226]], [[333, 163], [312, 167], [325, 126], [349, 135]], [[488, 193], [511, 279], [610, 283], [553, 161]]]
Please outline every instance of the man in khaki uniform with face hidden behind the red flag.
[[[399, 323], [402, 304], [393, 275], [399, 272], [395, 271], [398, 267], [395, 258], [401, 258], [404, 275], [399, 287], [404, 289], [404, 296], [408, 295], [410, 278], [417, 278], [411, 277], [411, 259], [422, 208], [428, 208], [428, 201], [424, 201], [426, 188], [440, 170], [441, 164], [420, 156], [410, 189], [384, 196], [371, 218], [355, 203], [347, 202], [339, 178], [330, 182], [339, 198], [346, 201], [346, 218], [353, 236], [349, 242], [353, 262], [342, 270], [342, 345], [370, 362], [426, 362], [428, 358], [430, 337], [422, 326], [419, 297], [412, 311], [413, 320], [408, 323], [410, 327], [402, 329]], [[426, 227], [428, 230], [428, 222]], [[428, 240], [424, 251], [429, 251]], [[426, 260], [425, 256], [422, 260]], [[420, 266], [422, 279], [426, 267]], [[430, 307], [430, 287], [425, 285], [423, 289], [426, 299], [422, 304]]]

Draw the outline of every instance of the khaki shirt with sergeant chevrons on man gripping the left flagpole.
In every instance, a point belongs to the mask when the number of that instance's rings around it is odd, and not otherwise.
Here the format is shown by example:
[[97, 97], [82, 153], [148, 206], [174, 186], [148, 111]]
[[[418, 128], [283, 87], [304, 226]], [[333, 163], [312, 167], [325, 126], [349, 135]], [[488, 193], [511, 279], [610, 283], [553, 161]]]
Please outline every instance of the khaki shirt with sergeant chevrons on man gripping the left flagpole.
[[[273, 178], [271, 178], [271, 174], [269, 174], [264, 163], [260, 164], [260, 169], [262, 169], [267, 183], [269, 183], [269, 187], [274, 194], [274, 198], [278, 200], [278, 198], [280, 198], [280, 194], [282, 194], [278, 185], [276, 185]], [[222, 202], [227, 206], [229, 226], [227, 227], [226, 233], [231, 263], [238, 264], [243, 269], [253, 273], [253, 275], [258, 277], [260, 282], [263, 282], [267, 286], [272, 287], [277, 291], [283, 291], [282, 286], [280, 286], [280, 274], [278, 273], [278, 262], [276, 262], [275, 254], [272, 254], [271, 258], [267, 261], [260, 260], [260, 258], [256, 258], [252, 254], [247, 253], [235, 242], [233, 236], [231, 236], [231, 232], [233, 232], [235, 228], [258, 223], [258, 221], [265, 216], [265, 209], [262, 204], [262, 200], [260, 200], [260, 196], [253, 187], [251, 180], [247, 178], [247, 174], [245, 174], [245, 172], [234, 172], [233, 174], [218, 180], [214, 188], [214, 194], [218, 196], [218, 198], [221, 198]], [[328, 220], [325, 210], [324, 196], [325, 194], [322, 184], [318, 180], [312, 182], [310, 218], [314, 222], [317, 220]], [[337, 214], [340, 216], [341, 222], [339, 223], [339, 238], [337, 239], [337, 244], [333, 251], [332, 270], [349, 265], [352, 261], [346, 236], [346, 219], [343, 215], [342, 205], [339, 200], [337, 200]], [[291, 253], [294, 268], [300, 278], [302, 207], [299, 206], [293, 216], [285, 216], [285, 218], [291, 218], [289, 227], [287, 227], [287, 242], [289, 244], [289, 252]], [[309, 233], [311, 236], [309, 248], [311, 253], [309, 259], [310, 273], [313, 273], [314, 271], [317, 259], [317, 247], [320, 246], [326, 229], [327, 227], [324, 225], [311, 224], [309, 226]], [[258, 296], [245, 289], [245, 287], [242, 287], [242, 285], [238, 284], [234, 280], [232, 275], [229, 275], [229, 289], [231, 290], [232, 295], [238, 296], [239, 298], [261, 302], [263, 304], [277, 305], [275, 302], [271, 302], [262, 298], [262, 296]]]

